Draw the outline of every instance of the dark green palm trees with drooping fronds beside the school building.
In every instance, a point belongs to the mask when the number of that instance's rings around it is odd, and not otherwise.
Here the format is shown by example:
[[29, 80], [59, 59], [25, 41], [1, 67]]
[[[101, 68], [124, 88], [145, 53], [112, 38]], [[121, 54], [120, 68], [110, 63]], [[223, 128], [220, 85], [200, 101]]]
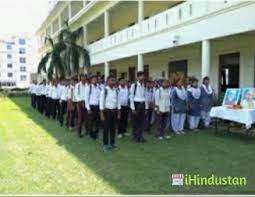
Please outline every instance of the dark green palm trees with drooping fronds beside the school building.
[[90, 67], [88, 50], [76, 43], [82, 34], [81, 28], [72, 32], [66, 22], [58, 35], [57, 43], [52, 38], [46, 38], [52, 50], [41, 59], [38, 73], [47, 73], [51, 80], [54, 76], [58, 79], [79, 75], [80, 67]]

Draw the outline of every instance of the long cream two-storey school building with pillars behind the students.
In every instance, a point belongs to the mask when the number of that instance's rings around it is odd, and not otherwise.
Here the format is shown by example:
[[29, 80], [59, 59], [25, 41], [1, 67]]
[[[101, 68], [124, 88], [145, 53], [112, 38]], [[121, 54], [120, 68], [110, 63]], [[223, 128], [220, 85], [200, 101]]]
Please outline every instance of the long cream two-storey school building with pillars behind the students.
[[[152, 79], [210, 76], [216, 92], [255, 83], [255, 1], [54, 1], [37, 31], [39, 53], [69, 20], [83, 29], [89, 72]], [[86, 72], [86, 71], [85, 71]]]

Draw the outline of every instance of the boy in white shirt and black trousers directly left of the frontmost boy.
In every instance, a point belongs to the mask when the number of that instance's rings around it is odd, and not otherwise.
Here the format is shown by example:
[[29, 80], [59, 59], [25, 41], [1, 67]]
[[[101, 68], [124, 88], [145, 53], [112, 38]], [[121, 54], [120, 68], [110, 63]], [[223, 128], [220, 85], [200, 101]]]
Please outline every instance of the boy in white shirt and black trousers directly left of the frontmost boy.
[[88, 112], [88, 130], [92, 139], [98, 138], [100, 113], [99, 113], [99, 98], [101, 88], [97, 83], [97, 76], [92, 76], [90, 85], [85, 89], [85, 105]]

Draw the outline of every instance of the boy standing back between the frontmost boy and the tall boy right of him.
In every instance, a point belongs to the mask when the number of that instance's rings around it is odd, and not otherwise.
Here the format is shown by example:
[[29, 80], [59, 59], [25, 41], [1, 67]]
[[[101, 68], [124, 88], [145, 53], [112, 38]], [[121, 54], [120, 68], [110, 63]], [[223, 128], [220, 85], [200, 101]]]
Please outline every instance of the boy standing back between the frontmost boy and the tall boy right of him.
[[118, 100], [120, 104], [120, 120], [118, 121], [118, 138], [122, 138], [123, 135], [127, 135], [127, 126], [128, 126], [128, 98], [129, 90], [127, 87], [127, 82], [124, 78], [119, 79], [119, 88], [118, 88]]

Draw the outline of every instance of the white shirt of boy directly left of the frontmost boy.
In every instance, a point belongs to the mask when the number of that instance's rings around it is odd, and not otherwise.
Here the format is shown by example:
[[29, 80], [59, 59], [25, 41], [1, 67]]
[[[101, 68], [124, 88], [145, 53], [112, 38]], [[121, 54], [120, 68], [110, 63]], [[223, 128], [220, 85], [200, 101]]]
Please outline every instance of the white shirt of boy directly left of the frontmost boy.
[[85, 104], [87, 110], [90, 110], [90, 105], [99, 105], [101, 88], [96, 85], [88, 85], [85, 88]]

